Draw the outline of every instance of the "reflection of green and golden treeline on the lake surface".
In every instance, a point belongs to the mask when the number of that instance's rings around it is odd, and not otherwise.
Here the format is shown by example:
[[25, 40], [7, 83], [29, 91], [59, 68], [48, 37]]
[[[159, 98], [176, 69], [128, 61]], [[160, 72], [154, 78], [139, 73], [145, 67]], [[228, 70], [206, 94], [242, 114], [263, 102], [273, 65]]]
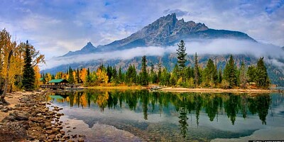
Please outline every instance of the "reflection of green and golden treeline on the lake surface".
[[[70, 107], [90, 107], [95, 104], [104, 111], [105, 107], [116, 109], [126, 104], [126, 108], [139, 112], [141, 108], [143, 119], [148, 120], [149, 114], [170, 114], [168, 107], [175, 107], [179, 113], [178, 123], [180, 133], [185, 138], [188, 131], [188, 116], [195, 114], [197, 126], [200, 124], [200, 112], [207, 114], [209, 121], [218, 121], [218, 115], [228, 116], [234, 125], [239, 114], [244, 119], [248, 114], [258, 114], [262, 124], [266, 124], [266, 116], [271, 104], [269, 94], [231, 93], [173, 93], [173, 92], [148, 92], [148, 90], [98, 90], [89, 89], [84, 92], [64, 92], [58, 102], [67, 102]], [[51, 99], [49, 97], [49, 99]], [[54, 99], [54, 98], [53, 98]], [[124, 109], [126, 109], [124, 107]], [[156, 109], [157, 108], [157, 109]]]

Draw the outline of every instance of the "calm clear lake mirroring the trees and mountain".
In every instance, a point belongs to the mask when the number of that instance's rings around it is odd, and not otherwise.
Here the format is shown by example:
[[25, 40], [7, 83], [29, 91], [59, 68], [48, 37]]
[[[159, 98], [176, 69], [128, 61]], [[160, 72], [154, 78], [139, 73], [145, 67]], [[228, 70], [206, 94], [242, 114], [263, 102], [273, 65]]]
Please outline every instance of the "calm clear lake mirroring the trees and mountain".
[[284, 130], [284, 95], [278, 93], [87, 89], [55, 93], [48, 100], [63, 108], [65, 119], [77, 123], [72, 132], [83, 133], [87, 141], [221, 141], [260, 130], [284, 139], [277, 134]]

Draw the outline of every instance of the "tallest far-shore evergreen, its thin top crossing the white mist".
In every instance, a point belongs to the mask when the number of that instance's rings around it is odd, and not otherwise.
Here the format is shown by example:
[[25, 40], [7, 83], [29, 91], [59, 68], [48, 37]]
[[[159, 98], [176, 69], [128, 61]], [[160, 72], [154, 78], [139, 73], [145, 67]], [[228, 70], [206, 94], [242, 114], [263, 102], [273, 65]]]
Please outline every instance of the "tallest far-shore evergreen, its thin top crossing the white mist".
[[185, 62], [187, 62], [187, 60], [185, 59], [187, 53], [185, 53], [185, 42], [183, 40], [180, 40], [180, 43], [178, 44], [178, 50], [177, 50], [177, 54], [178, 54], [178, 64], [180, 67], [180, 77], [182, 77], [182, 82], [185, 81]]

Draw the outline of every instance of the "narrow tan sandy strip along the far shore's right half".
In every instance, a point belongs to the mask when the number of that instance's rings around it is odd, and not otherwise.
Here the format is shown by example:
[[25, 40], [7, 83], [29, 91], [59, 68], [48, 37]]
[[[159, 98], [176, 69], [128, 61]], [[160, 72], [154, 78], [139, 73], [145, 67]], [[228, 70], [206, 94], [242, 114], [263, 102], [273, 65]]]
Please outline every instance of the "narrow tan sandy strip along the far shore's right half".
[[182, 88], [182, 87], [166, 87], [163, 89], [158, 89], [158, 91], [163, 92], [212, 92], [212, 93], [222, 93], [222, 92], [231, 92], [231, 93], [271, 93], [278, 92], [278, 90], [271, 89], [215, 89], [215, 88]]

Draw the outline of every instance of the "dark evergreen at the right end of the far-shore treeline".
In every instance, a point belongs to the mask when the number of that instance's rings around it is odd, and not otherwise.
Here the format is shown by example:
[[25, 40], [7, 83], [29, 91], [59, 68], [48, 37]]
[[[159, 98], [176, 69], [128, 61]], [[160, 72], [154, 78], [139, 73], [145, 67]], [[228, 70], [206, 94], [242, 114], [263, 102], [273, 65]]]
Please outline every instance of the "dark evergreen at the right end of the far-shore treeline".
[[259, 58], [256, 65], [256, 85], [258, 87], [268, 88], [270, 84], [263, 58]]

